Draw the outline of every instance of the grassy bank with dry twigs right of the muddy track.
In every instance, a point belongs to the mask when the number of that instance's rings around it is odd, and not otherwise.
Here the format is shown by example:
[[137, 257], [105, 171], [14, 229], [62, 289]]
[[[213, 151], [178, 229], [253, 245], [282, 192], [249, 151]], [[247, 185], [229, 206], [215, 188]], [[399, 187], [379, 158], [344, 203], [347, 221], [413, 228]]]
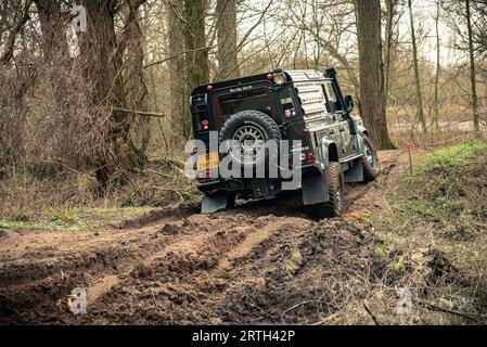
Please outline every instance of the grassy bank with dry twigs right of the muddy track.
[[[486, 324], [487, 142], [443, 147], [414, 162], [413, 174], [384, 192], [392, 213], [361, 221], [379, 239], [377, 255], [396, 255], [392, 270], [413, 269], [407, 282], [414, 305], [428, 312], [421, 321]], [[424, 264], [430, 270], [418, 277]]]

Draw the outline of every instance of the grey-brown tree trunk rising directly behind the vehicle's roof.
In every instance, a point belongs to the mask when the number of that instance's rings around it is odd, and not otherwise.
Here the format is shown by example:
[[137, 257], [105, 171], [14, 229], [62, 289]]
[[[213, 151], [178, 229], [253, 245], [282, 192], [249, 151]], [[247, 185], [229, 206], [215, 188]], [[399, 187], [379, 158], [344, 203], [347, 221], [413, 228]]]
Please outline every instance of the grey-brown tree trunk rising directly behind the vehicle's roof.
[[215, 79], [238, 78], [235, 0], [217, 0], [218, 74]]

